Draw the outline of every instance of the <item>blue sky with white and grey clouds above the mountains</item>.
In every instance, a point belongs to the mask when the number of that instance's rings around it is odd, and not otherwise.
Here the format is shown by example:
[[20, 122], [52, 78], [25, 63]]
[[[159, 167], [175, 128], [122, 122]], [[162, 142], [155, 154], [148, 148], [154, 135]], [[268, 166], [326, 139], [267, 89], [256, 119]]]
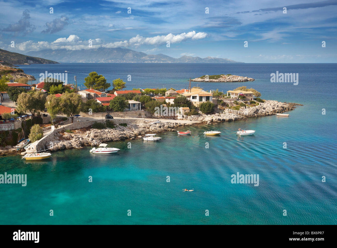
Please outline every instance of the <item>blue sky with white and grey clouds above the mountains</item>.
[[337, 62], [337, 0], [0, 0], [0, 6], [0, 48], [22, 54], [121, 47], [246, 63]]

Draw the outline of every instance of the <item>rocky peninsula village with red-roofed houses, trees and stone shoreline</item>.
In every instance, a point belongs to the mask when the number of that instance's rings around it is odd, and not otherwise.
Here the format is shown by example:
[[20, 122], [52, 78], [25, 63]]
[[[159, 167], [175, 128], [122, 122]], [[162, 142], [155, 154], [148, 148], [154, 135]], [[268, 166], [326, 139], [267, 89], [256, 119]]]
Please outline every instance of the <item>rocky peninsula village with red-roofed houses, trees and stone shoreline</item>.
[[[85, 79], [86, 89], [52, 78], [31, 85], [22, 78], [18, 81], [2, 76], [0, 82], [1, 154], [146, 139], [141, 135], [177, 131], [177, 127], [201, 122], [282, 113], [295, 105], [262, 100], [260, 92], [245, 86], [206, 91], [191, 87], [191, 80], [183, 89], [132, 90], [126, 90], [126, 82], [120, 78], [113, 81], [112, 90], [104, 90], [111, 85], [96, 72]], [[86, 129], [85, 135], [81, 129]]]

